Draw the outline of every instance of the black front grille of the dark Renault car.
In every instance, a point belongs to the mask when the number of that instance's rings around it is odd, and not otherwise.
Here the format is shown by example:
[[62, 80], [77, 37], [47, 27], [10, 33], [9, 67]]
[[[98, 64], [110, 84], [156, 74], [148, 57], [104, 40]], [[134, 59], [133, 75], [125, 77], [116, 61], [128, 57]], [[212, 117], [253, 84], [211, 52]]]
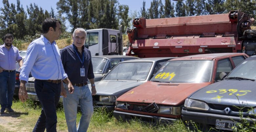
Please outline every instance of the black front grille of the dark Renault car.
[[220, 105], [220, 104], [209, 104], [209, 107], [214, 110], [224, 110], [225, 108], [229, 107], [230, 110], [239, 112], [239, 110], [242, 110], [243, 112], [248, 111], [248, 107], [239, 107], [239, 106], [230, 106], [230, 105]]

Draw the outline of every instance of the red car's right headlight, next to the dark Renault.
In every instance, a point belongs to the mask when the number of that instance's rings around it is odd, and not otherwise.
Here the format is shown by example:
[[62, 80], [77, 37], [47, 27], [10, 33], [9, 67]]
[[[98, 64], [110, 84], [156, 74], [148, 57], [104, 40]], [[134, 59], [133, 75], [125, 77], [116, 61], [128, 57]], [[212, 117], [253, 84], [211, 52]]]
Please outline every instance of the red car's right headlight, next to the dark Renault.
[[159, 113], [159, 114], [169, 114], [169, 115], [180, 115], [181, 114], [181, 107], [160, 106], [157, 113]]

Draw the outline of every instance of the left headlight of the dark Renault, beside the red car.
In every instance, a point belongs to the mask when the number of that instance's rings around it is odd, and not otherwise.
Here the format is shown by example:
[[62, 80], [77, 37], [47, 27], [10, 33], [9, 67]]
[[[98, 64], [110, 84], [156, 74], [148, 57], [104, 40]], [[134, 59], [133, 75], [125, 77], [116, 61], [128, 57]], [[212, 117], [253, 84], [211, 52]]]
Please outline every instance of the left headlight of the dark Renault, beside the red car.
[[206, 103], [189, 98], [186, 98], [184, 107], [196, 110], [209, 110], [209, 106]]

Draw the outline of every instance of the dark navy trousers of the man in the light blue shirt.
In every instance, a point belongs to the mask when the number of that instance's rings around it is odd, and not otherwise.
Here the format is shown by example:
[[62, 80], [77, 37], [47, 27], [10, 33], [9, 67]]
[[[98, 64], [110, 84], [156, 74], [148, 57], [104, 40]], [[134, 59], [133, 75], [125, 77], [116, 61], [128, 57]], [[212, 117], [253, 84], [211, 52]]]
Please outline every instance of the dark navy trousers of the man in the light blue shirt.
[[60, 98], [61, 83], [51, 83], [35, 80], [35, 92], [41, 103], [42, 111], [33, 132], [56, 132], [57, 114], [56, 106]]

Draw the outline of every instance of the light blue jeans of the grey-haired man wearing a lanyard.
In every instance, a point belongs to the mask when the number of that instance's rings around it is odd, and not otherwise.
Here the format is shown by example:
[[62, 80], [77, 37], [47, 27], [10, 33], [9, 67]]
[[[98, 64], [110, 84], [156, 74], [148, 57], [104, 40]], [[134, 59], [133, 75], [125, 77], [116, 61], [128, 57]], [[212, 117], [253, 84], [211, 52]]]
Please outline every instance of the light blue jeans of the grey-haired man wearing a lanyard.
[[[74, 86], [74, 93], [69, 94], [68, 85], [63, 83], [67, 97], [63, 98], [63, 106], [69, 132], [86, 132], [93, 115], [92, 93], [85, 85], [83, 87]], [[77, 106], [80, 104], [82, 116], [78, 128], [76, 128]]]

